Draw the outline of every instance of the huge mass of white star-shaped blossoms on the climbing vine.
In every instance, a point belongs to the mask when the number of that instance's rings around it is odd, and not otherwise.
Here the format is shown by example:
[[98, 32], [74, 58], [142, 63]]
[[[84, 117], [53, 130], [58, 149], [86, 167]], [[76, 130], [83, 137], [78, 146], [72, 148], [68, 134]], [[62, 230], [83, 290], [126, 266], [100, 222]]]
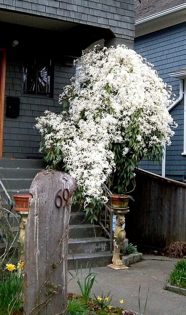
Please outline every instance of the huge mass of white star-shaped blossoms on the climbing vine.
[[[76, 62], [78, 79], [59, 96], [59, 103], [68, 99], [68, 115], [45, 112], [36, 127], [46, 149], [59, 147], [57, 160], [63, 159], [83, 188], [86, 206], [92, 197], [104, 200], [102, 184], [115, 167], [111, 144], [125, 145], [131, 117], [139, 126], [137, 141], [144, 152], [153, 144], [169, 145], [175, 124], [167, 111], [170, 88], [133, 50], [123, 45], [95, 49]], [[144, 136], [150, 137], [148, 143]], [[128, 150], [126, 145], [123, 156]]]

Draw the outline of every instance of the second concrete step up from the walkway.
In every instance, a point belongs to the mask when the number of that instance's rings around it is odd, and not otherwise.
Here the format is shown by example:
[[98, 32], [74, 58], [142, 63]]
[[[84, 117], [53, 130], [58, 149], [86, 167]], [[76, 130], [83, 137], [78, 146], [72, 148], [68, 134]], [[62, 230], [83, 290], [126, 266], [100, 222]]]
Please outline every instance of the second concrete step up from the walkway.
[[68, 255], [81, 253], [95, 253], [110, 250], [110, 239], [97, 238], [76, 238], [68, 240]]

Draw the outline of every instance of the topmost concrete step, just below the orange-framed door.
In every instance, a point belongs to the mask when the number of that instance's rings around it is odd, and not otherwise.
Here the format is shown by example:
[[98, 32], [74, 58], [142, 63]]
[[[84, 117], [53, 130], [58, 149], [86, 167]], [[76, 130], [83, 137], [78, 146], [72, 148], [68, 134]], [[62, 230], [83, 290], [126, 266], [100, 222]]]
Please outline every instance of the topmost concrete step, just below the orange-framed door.
[[38, 159], [0, 158], [1, 168], [45, 169], [46, 163]]

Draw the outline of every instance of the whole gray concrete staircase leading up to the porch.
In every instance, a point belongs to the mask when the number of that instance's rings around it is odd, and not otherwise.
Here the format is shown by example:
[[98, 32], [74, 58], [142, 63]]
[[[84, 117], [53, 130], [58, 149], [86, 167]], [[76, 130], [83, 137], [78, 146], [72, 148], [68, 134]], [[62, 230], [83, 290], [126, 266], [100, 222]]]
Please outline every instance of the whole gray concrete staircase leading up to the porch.
[[[45, 168], [42, 160], [0, 158], [0, 179], [12, 198], [28, 194], [35, 175]], [[68, 242], [68, 269], [106, 266], [111, 262], [110, 240], [101, 237], [101, 227], [89, 224], [85, 213], [71, 210]]]

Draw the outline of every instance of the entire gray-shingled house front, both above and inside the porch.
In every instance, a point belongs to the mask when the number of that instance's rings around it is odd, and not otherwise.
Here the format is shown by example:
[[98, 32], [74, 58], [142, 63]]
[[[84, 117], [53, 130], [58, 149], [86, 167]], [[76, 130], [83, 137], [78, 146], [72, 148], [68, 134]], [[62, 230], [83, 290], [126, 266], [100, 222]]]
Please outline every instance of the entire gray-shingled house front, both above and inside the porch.
[[[34, 31], [26, 28], [28, 15], [28, 21], [33, 21], [29, 26], [38, 27]], [[40, 17], [45, 17], [45, 21]], [[40, 135], [33, 129], [35, 117], [43, 115], [46, 109], [61, 111], [59, 94], [74, 74], [73, 67], [64, 65], [63, 57], [78, 56], [82, 49], [101, 38], [107, 46], [125, 43], [133, 47], [134, 0], [0, 0], [0, 21], [6, 24], [0, 24], [3, 30], [0, 47], [7, 49], [4, 113], [6, 96], [20, 97], [20, 116], [8, 118], [4, 114], [3, 156], [38, 156]], [[53, 25], [57, 28], [53, 29]], [[12, 48], [14, 39], [19, 44]], [[23, 94], [23, 64], [32, 50], [38, 56], [53, 55], [53, 98]]]

